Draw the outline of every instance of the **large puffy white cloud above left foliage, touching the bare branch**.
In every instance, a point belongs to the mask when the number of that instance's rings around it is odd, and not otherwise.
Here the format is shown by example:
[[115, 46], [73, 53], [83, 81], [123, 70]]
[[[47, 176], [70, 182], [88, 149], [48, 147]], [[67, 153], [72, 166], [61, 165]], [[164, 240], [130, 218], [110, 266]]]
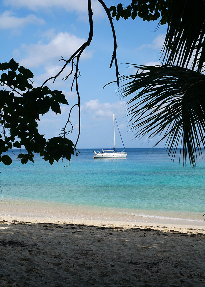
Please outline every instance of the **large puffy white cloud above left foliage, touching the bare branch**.
[[[39, 41], [37, 44], [22, 45], [21, 50], [16, 50], [15, 53], [25, 55], [18, 60], [21, 65], [39, 67], [46, 65], [50, 60], [59, 60], [61, 56], [67, 60], [85, 41], [86, 39], [78, 38], [73, 34], [60, 32], [47, 44]], [[81, 59], [91, 57], [91, 51], [84, 51], [81, 55]]]

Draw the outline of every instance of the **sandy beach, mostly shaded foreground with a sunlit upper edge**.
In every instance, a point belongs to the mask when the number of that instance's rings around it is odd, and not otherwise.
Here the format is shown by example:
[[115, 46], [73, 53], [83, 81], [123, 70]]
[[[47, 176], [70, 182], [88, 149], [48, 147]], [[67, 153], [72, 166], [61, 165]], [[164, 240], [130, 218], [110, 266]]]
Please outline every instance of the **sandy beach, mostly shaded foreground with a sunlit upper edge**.
[[203, 226], [1, 214], [1, 286], [204, 286]]

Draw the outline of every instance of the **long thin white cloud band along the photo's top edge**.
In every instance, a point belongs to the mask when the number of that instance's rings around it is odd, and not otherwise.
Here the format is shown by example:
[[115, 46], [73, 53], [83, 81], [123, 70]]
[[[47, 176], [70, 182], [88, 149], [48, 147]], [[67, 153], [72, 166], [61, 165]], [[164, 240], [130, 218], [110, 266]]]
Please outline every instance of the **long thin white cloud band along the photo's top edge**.
[[[67, 12], [88, 15], [88, 3], [86, 0], [7, 0], [5, 5], [11, 6], [15, 9], [28, 8], [32, 11], [44, 10], [49, 13], [52, 9], [64, 9]], [[102, 5], [96, 1], [91, 1], [94, 16], [104, 17]], [[87, 17], [88, 18], [88, 17]]]

